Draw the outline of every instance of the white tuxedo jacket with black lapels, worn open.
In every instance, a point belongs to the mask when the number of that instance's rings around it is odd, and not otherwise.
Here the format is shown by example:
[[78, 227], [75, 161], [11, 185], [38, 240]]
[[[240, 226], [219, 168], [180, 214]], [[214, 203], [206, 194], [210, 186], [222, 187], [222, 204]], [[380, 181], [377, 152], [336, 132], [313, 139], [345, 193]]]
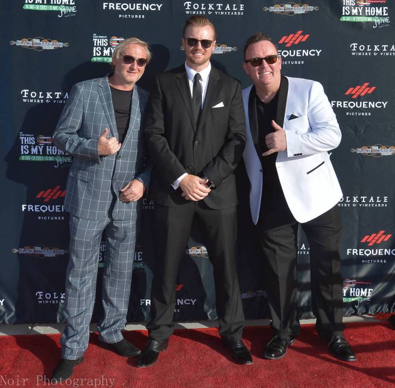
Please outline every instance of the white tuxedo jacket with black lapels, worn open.
[[[264, 177], [253, 85], [243, 90], [243, 102], [247, 122], [243, 158], [251, 184], [251, 216], [257, 224]], [[281, 188], [296, 221], [304, 223], [331, 209], [343, 195], [328, 154], [342, 134], [322, 85], [301, 78], [281, 77], [276, 122], [285, 129], [287, 141], [287, 149], [276, 160]]]

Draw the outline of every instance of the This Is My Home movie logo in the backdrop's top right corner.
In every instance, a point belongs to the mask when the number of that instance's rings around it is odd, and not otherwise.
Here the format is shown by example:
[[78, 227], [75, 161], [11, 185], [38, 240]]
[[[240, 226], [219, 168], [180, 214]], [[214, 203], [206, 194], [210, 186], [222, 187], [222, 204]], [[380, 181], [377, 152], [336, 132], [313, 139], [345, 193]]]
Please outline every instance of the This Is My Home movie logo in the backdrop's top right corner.
[[343, 0], [340, 21], [371, 22], [373, 28], [386, 27], [390, 24], [388, 7], [381, 4], [386, 0]]

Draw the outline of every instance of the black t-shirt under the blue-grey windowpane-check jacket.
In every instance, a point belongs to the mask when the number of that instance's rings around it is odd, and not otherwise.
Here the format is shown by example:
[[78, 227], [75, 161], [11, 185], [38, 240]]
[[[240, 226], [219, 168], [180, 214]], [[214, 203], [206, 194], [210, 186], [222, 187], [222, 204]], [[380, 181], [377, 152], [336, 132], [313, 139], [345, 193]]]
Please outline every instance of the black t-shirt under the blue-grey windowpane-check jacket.
[[129, 128], [133, 90], [119, 90], [110, 85], [119, 143], [123, 143]]

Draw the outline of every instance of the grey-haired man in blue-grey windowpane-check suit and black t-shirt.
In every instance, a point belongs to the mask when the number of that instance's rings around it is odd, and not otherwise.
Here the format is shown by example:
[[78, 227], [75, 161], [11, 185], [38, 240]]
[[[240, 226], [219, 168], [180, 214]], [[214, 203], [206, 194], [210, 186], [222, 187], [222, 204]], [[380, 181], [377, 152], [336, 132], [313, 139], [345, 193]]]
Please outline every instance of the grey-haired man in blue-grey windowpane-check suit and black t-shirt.
[[151, 170], [145, 165], [142, 131], [148, 93], [135, 85], [150, 58], [146, 42], [129, 38], [119, 43], [113, 53], [114, 72], [73, 86], [53, 134], [53, 142], [73, 156], [73, 163], [65, 197], [70, 213], [67, 324], [52, 381], [70, 377], [88, 347], [103, 231], [107, 255], [99, 339], [121, 356], [141, 353], [123, 338], [121, 329], [129, 304], [139, 199]]

